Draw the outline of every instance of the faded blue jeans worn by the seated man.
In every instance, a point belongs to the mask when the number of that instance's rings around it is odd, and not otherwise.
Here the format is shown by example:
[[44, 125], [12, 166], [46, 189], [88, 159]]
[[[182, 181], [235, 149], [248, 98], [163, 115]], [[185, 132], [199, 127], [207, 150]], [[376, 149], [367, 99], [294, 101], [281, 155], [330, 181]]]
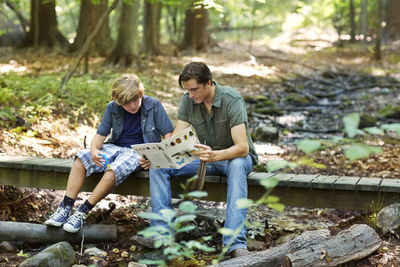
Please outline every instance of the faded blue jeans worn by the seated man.
[[[200, 160], [195, 160], [180, 169], [150, 169], [150, 196], [153, 212], [158, 213], [162, 209], [172, 209], [171, 176], [192, 177], [196, 174], [199, 164]], [[237, 209], [236, 201], [240, 198], [247, 198], [247, 176], [252, 169], [253, 160], [250, 155], [245, 158], [207, 163], [207, 175], [227, 177], [228, 194], [224, 225], [226, 228], [235, 230], [246, 219], [247, 210]], [[152, 220], [151, 225], [162, 225], [162, 222]], [[223, 245], [227, 245], [230, 239], [231, 236], [223, 236]], [[243, 227], [236, 236], [228, 253], [238, 248], [247, 248], [246, 227]]]

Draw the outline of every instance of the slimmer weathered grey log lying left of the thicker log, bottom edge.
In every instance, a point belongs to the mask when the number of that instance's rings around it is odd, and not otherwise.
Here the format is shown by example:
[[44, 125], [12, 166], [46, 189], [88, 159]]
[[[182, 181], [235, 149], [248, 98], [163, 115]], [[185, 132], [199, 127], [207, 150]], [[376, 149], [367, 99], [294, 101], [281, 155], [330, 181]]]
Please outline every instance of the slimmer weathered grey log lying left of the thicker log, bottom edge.
[[292, 241], [275, 248], [252, 252], [247, 256], [222, 261], [213, 267], [276, 267], [282, 266], [284, 257], [293, 250], [301, 250], [328, 240], [329, 230], [307, 231]]

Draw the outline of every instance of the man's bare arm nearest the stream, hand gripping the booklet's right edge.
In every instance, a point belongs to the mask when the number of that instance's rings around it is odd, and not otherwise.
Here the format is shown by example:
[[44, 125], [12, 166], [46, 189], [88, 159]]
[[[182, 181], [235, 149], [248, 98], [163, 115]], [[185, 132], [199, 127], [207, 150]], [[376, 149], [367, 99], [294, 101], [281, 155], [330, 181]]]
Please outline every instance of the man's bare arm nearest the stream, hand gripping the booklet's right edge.
[[246, 126], [244, 123], [231, 128], [231, 134], [234, 145], [223, 150], [213, 151], [209, 146], [196, 145], [203, 150], [195, 153], [200, 160], [205, 162], [214, 162], [229, 160], [234, 158], [246, 157], [249, 154], [249, 143], [247, 141]]

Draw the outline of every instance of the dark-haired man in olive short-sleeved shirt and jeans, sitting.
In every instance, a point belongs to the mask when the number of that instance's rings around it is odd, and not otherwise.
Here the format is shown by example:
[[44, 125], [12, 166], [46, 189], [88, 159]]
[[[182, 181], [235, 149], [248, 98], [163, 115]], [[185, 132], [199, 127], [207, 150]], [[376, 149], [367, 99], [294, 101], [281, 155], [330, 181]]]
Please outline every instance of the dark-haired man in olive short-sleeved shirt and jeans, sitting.
[[[194, 176], [200, 160], [207, 162], [208, 175], [227, 176], [228, 194], [224, 227], [237, 229], [246, 219], [246, 209], [237, 209], [236, 201], [247, 198], [247, 176], [257, 162], [250, 137], [246, 105], [240, 94], [212, 80], [210, 69], [201, 62], [185, 66], [179, 76], [180, 87], [187, 90], [179, 105], [178, 122], [173, 134], [192, 125], [202, 144], [197, 145], [196, 160], [181, 169], [150, 169], [150, 195], [153, 212], [172, 209], [171, 176]], [[143, 168], [150, 163], [141, 160]], [[162, 225], [152, 221], [152, 225]], [[231, 236], [223, 236], [226, 246]], [[140, 240], [136, 240], [140, 243]], [[235, 237], [228, 250], [233, 257], [248, 254], [246, 228]]]

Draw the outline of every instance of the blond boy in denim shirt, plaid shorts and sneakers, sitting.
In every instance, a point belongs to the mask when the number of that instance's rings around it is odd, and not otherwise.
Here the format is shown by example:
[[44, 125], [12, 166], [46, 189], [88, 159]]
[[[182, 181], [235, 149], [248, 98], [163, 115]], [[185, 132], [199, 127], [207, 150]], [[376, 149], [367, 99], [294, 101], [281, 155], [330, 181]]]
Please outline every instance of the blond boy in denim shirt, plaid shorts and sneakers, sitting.
[[[57, 211], [45, 221], [70, 233], [78, 232], [89, 211], [132, 172], [141, 169], [140, 156], [133, 144], [160, 142], [171, 136], [173, 126], [161, 103], [144, 95], [144, 87], [134, 74], [126, 74], [111, 86], [112, 100], [107, 104], [90, 149], [75, 157], [67, 189]], [[112, 135], [106, 143], [106, 137]], [[71, 215], [85, 177], [103, 173], [91, 196]]]

